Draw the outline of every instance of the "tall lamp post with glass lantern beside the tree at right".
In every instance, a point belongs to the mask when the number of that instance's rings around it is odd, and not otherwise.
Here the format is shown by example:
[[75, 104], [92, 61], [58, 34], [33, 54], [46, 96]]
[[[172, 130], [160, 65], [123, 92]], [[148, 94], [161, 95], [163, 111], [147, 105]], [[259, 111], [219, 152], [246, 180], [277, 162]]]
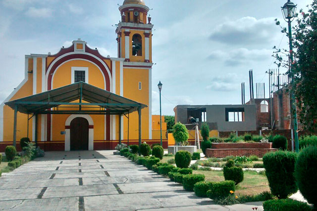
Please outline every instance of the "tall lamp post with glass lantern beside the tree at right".
[[[292, 72], [292, 65], [293, 65], [293, 44], [292, 44], [292, 26], [291, 22], [296, 17], [296, 6], [297, 4], [294, 4], [292, 1], [287, 0], [287, 2], [282, 6], [282, 13], [284, 16], [285, 21], [288, 23], [288, 38], [289, 38], [289, 53], [290, 53], [290, 60], [291, 60], [291, 66], [290, 66], [290, 73], [292, 80], [294, 79], [294, 75]], [[293, 121], [294, 121], [294, 139], [295, 139], [295, 151], [299, 151], [299, 143], [298, 143], [298, 132], [297, 132], [297, 111], [296, 111], [296, 100], [294, 92], [291, 91], [291, 107], [294, 111], [293, 113]]]

